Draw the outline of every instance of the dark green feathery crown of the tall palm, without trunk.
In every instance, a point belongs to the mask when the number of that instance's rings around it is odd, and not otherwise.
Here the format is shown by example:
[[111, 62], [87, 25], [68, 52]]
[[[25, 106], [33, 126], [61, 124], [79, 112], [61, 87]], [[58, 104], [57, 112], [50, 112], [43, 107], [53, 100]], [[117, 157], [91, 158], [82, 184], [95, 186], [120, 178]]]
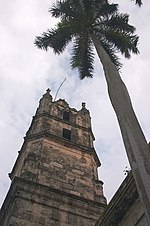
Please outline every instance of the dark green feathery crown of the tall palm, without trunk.
[[117, 69], [122, 66], [116, 55], [118, 51], [126, 58], [138, 53], [135, 28], [128, 23], [127, 14], [118, 12], [117, 4], [109, 4], [107, 0], [63, 0], [57, 1], [49, 12], [60, 18], [60, 22], [36, 37], [35, 45], [46, 51], [53, 48], [60, 54], [73, 41], [71, 66], [78, 69], [81, 79], [93, 76], [93, 34]]

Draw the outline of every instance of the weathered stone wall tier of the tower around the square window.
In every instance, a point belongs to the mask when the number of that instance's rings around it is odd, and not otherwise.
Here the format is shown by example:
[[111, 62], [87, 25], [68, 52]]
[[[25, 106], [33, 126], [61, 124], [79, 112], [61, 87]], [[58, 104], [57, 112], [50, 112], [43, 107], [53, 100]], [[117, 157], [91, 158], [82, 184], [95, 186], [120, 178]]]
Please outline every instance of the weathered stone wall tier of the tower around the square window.
[[87, 128], [85, 123], [80, 123], [81, 125], [77, 123], [76, 121], [74, 123], [74, 120], [68, 122], [50, 114], [36, 115], [33, 118], [33, 124], [28, 134], [33, 135], [45, 131], [52, 135], [63, 137], [63, 129], [67, 129], [71, 131], [71, 140], [73, 142], [92, 148], [93, 137], [90, 127]]

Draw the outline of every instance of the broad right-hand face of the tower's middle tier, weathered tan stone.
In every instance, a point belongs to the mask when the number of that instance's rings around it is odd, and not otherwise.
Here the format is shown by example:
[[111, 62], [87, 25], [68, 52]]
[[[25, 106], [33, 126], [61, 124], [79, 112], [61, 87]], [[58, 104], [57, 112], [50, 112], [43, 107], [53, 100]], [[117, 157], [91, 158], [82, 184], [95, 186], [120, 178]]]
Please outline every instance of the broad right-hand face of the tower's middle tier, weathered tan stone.
[[[95, 177], [97, 168], [93, 162], [91, 153], [45, 139], [38, 182], [95, 200], [98, 195], [95, 185], [98, 176], [96, 174]], [[102, 196], [102, 191], [99, 192]]]

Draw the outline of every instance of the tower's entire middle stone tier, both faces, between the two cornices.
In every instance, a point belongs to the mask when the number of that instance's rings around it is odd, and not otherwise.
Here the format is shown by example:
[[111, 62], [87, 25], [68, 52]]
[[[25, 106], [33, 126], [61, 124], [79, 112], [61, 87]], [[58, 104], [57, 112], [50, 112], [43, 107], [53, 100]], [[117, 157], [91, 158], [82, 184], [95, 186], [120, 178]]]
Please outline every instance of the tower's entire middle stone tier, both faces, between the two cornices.
[[25, 178], [106, 204], [92, 152], [55, 139], [29, 140], [11, 178]]

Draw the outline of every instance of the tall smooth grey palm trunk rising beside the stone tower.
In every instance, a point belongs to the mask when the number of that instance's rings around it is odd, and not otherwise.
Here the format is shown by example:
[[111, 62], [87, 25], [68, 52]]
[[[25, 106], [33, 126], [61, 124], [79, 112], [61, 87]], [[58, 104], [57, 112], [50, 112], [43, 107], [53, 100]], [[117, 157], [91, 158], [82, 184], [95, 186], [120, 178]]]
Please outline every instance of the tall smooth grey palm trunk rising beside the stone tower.
[[125, 84], [95, 35], [91, 35], [103, 65], [108, 93], [115, 110], [139, 197], [150, 225], [150, 151], [134, 113]]

